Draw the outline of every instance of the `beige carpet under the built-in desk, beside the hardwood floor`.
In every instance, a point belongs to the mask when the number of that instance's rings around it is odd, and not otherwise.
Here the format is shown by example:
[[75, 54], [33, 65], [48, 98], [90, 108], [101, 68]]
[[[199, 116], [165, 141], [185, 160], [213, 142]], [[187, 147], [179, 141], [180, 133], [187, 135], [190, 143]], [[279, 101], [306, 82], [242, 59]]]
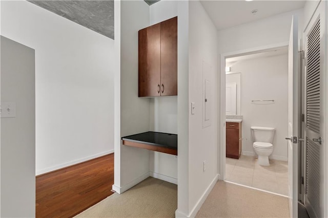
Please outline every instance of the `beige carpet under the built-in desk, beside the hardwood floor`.
[[75, 217], [175, 217], [177, 185], [149, 177]]

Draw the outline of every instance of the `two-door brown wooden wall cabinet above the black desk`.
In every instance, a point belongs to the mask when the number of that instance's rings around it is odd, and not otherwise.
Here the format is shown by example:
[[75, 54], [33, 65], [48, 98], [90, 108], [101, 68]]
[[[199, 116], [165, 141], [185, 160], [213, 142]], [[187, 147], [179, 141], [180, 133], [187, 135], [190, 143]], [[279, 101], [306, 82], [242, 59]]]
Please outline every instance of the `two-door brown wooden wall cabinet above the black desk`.
[[178, 94], [178, 19], [139, 30], [139, 97]]

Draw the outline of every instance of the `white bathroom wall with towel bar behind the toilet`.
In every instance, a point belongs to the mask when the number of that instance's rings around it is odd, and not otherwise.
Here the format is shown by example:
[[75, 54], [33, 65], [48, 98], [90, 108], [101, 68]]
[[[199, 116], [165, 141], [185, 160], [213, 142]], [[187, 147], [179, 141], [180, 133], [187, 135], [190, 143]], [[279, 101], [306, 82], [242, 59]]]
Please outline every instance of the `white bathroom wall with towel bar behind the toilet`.
[[[251, 126], [274, 127], [270, 158], [287, 161], [288, 54], [240, 60], [232, 71], [241, 72], [242, 154], [255, 156]], [[274, 102], [252, 103], [252, 100]]]

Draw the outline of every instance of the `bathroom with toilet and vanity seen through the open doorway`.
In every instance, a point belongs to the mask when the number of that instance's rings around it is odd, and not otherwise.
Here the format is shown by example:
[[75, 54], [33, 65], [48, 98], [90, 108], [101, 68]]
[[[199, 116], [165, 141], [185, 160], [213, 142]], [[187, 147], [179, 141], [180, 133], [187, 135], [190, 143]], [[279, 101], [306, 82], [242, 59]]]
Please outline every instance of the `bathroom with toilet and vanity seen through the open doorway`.
[[[226, 67], [226, 181], [288, 195], [288, 48], [227, 58]], [[231, 156], [228, 128], [237, 125], [240, 151]], [[254, 133], [272, 145], [255, 152]]]

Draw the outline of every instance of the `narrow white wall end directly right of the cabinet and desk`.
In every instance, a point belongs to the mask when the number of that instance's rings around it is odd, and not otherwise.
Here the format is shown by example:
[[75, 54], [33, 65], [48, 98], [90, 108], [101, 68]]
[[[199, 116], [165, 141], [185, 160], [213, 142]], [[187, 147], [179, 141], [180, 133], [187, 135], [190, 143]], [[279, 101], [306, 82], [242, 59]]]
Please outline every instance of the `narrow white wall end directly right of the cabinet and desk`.
[[189, 214], [189, 2], [178, 4], [178, 208]]

